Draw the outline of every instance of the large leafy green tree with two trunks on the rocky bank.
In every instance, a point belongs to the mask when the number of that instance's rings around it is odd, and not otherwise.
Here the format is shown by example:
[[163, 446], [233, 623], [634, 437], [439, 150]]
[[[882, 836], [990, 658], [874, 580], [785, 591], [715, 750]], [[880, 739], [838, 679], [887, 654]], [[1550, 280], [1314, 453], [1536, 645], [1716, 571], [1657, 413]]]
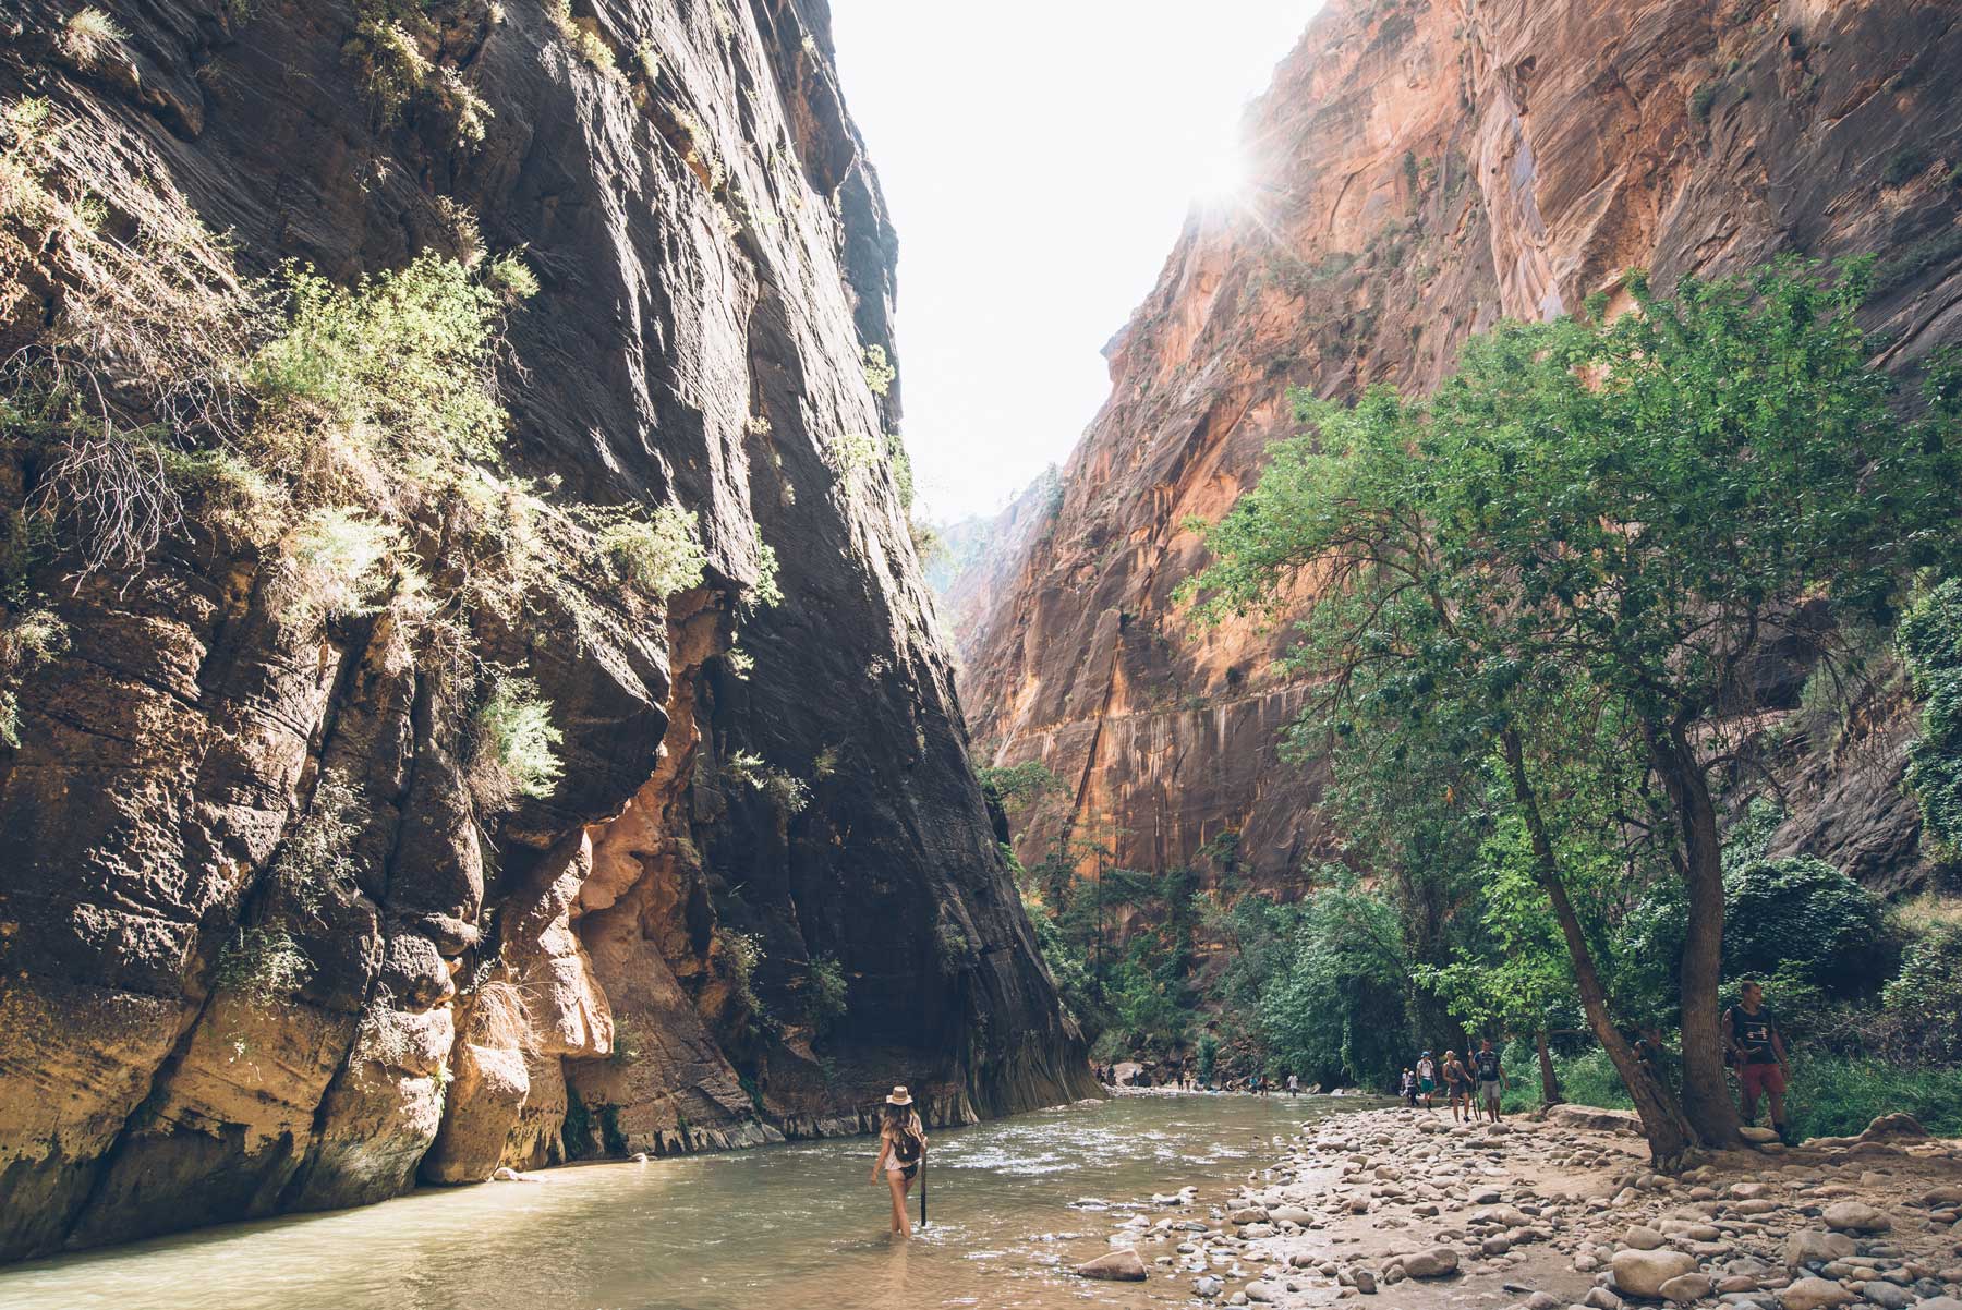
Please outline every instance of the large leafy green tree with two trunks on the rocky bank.
[[[1452, 753], [1497, 747], [1581, 1004], [1658, 1159], [1738, 1128], [1717, 1028], [1719, 730], [1748, 708], [1768, 641], [1833, 657], [1801, 600], [1889, 622], [1954, 510], [1952, 418], [1899, 422], [1866, 367], [1866, 273], [1783, 261], [1668, 298], [1632, 275], [1636, 312], [1503, 324], [1430, 404], [1303, 396], [1315, 433], [1277, 443], [1207, 533], [1203, 614], [1271, 612], [1313, 569], [1297, 661], [1322, 677], [1318, 722], [1354, 730], [1364, 710]], [[1634, 761], [1609, 796], [1660, 792], [1654, 831], [1689, 906], [1679, 1108], [1617, 1032], [1568, 892], [1546, 786], [1572, 765], [1558, 747], [1575, 718]]]

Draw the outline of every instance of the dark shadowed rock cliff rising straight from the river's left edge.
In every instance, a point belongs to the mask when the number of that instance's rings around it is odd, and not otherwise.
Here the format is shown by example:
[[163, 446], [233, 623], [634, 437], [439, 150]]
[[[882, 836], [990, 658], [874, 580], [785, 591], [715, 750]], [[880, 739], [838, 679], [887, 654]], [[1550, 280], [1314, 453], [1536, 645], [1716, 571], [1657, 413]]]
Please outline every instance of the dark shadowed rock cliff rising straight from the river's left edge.
[[[1091, 1094], [893, 479], [826, 457], [897, 392], [861, 369], [891, 349], [895, 239], [824, 2], [581, 2], [575, 43], [540, 0], [439, 0], [414, 43], [481, 98], [475, 145], [455, 98], [385, 122], [351, 43], [375, 4], [104, 8], [100, 49], [61, 6], [0, 16], [0, 104], [47, 100], [114, 239], [155, 235], [128, 194], [177, 196], [239, 275], [347, 284], [453, 253], [473, 208], [542, 282], [508, 324], [508, 463], [679, 502], [708, 567], [665, 614], [581, 577], [587, 622], [473, 616], [563, 733], [557, 786], [494, 820], [467, 688], [392, 610], [294, 616], [267, 555], [200, 522], [141, 571], [82, 575], [57, 537], [10, 575], [67, 649], [6, 686], [0, 1259], [853, 1132], [893, 1083], [936, 1122]], [[8, 349], [73, 318], [71, 237], [0, 288]], [[271, 963], [235, 967], [271, 926]]]

